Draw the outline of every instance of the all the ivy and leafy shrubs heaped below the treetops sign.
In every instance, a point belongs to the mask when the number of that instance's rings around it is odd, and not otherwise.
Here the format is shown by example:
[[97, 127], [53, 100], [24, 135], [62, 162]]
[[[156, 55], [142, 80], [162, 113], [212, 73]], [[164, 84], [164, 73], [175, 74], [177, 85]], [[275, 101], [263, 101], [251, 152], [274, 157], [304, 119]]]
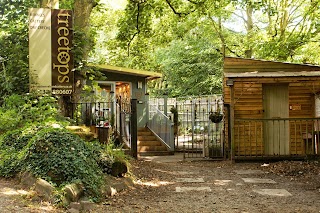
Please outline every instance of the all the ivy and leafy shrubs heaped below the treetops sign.
[[104, 172], [110, 174], [114, 162], [127, 163], [126, 157], [121, 149], [114, 151], [112, 141], [101, 145], [67, 130], [69, 122], [59, 115], [55, 104], [48, 96], [6, 99], [0, 109], [0, 120], [7, 117], [8, 124], [1, 129], [0, 176], [15, 177], [29, 171], [57, 190], [81, 184], [85, 195], [98, 201]]

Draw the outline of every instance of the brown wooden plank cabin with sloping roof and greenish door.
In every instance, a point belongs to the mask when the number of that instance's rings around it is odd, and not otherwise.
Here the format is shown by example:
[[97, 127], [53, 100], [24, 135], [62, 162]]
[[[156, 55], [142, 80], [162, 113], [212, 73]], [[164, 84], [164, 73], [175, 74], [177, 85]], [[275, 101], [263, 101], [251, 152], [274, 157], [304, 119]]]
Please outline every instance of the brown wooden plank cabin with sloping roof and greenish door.
[[320, 66], [224, 58], [231, 159], [318, 155]]

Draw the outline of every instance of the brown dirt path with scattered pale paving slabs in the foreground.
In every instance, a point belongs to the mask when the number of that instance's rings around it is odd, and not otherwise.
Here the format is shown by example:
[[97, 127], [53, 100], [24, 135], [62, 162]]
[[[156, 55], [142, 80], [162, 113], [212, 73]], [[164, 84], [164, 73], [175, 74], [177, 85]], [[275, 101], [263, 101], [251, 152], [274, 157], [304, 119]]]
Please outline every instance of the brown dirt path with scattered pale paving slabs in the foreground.
[[271, 164], [163, 159], [134, 161], [135, 187], [93, 212], [320, 212], [319, 173], [293, 177], [273, 173]]

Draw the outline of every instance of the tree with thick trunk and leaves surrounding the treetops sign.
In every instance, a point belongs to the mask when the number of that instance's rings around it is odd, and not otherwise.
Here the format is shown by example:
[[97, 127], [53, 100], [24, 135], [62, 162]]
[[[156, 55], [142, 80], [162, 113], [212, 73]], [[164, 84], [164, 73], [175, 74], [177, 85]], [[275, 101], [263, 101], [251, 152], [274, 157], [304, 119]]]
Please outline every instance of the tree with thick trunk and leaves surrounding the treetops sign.
[[[85, 64], [92, 50], [90, 14], [97, 5], [96, 0], [3, 0], [0, 2], [0, 95], [26, 93], [29, 90], [28, 70], [28, 8], [57, 7], [74, 11], [75, 20], [75, 99], [84, 85], [87, 74], [92, 74]], [[67, 100], [64, 100], [66, 102]], [[71, 101], [71, 100], [68, 100]]]

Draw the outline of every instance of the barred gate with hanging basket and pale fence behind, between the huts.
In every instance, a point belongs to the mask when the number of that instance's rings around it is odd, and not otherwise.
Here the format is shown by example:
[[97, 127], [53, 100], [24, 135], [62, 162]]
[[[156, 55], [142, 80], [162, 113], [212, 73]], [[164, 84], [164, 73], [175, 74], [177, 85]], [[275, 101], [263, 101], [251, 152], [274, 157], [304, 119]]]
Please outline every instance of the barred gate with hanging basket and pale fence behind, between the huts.
[[[175, 151], [185, 158], [224, 158], [224, 115], [221, 95], [153, 98], [150, 107], [167, 111], [175, 126]], [[178, 117], [178, 118], [177, 118]]]

